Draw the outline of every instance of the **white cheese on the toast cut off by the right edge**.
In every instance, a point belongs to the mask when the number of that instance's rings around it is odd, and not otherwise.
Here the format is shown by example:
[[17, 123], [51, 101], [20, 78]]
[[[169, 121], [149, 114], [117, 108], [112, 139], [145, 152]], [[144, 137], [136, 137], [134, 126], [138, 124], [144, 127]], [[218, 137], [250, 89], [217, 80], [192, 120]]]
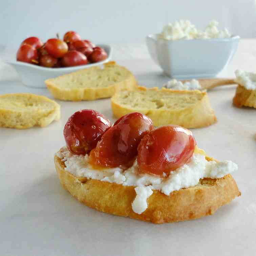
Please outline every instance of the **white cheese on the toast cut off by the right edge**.
[[256, 73], [246, 72], [242, 70], [235, 71], [235, 82], [246, 88], [247, 90], [256, 90]]

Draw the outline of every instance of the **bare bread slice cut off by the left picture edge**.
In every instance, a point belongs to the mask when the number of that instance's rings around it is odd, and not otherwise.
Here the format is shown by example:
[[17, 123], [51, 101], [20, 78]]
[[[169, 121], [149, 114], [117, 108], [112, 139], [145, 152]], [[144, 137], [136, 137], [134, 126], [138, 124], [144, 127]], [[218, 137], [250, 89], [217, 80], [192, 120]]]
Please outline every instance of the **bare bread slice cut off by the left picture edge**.
[[47, 97], [30, 93], [0, 95], [0, 127], [45, 127], [59, 119], [60, 105]]

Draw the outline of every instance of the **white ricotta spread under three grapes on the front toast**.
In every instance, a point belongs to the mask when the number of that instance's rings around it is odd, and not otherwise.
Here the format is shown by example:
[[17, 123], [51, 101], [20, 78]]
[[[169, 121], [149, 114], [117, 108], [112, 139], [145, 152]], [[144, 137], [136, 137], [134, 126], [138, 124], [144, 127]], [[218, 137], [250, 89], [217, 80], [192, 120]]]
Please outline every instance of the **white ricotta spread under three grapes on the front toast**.
[[170, 195], [175, 190], [196, 186], [201, 178], [222, 178], [238, 169], [238, 166], [231, 161], [207, 161], [204, 155], [194, 153], [188, 163], [171, 171], [168, 177], [162, 178], [138, 174], [137, 160], [127, 170], [119, 167], [96, 170], [89, 164], [88, 155], [74, 155], [66, 147], [56, 155], [65, 162], [65, 170], [74, 176], [134, 186], [136, 197], [132, 202], [132, 209], [137, 214], [147, 209], [147, 198], [152, 195], [153, 190]]

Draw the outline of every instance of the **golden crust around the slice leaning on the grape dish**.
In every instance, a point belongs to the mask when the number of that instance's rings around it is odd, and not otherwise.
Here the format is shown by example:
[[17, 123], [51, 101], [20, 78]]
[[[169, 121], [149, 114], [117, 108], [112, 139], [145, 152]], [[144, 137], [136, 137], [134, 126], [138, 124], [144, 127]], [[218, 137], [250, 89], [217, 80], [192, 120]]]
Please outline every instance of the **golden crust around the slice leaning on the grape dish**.
[[[82, 100], [97, 100], [97, 99], [104, 99], [104, 98], [110, 98], [115, 92], [118, 92], [120, 90], [133, 90], [137, 87], [137, 81], [133, 74], [127, 70], [125, 67], [121, 67], [119, 65], [116, 65], [114, 61], [108, 62], [104, 64], [104, 67], [109, 67], [111, 69], [119, 68], [125, 71], [127, 76], [123, 78], [122, 81], [119, 82], [113, 82], [112, 84], [109, 84], [108, 86], [93, 86], [91, 87], [76, 87], [75, 83], [73, 88], [64, 88], [59, 86], [58, 79], [75, 79], [78, 74], [81, 73], [88, 73], [90, 71], [97, 70], [100, 72], [100, 67], [91, 67], [86, 68], [83, 70], [79, 70], [73, 73], [65, 74], [63, 76], [53, 78], [53, 79], [47, 79], [45, 81], [45, 84], [48, 88], [48, 90], [51, 92], [51, 94], [54, 96], [54, 98], [62, 100], [62, 101], [82, 101]], [[99, 76], [100, 73], [99, 73]], [[107, 78], [106, 78], [107, 79]], [[88, 81], [88, 84], [90, 82]]]

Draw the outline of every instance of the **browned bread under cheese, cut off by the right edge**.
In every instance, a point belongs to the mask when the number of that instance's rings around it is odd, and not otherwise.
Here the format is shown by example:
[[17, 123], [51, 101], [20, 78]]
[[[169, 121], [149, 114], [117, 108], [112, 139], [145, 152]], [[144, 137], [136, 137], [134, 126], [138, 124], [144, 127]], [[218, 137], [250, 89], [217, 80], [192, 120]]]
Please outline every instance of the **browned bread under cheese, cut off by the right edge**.
[[239, 108], [242, 106], [256, 108], [256, 90], [247, 90], [243, 86], [238, 85], [233, 98], [233, 104]]

